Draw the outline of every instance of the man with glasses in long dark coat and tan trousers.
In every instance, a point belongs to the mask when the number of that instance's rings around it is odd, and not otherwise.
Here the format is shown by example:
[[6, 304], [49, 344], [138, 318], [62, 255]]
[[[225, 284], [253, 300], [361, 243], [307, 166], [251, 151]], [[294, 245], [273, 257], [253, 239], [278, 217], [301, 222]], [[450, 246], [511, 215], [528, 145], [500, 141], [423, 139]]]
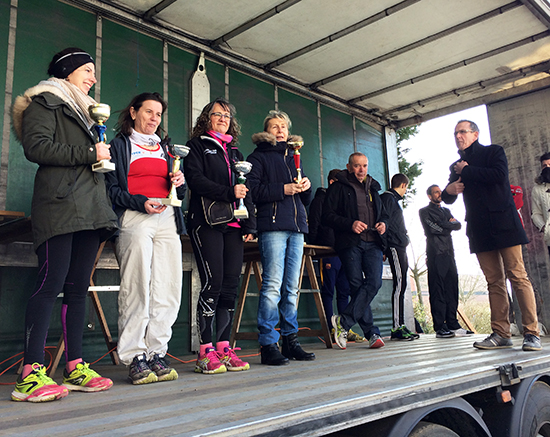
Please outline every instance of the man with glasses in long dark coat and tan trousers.
[[463, 193], [466, 206], [466, 235], [487, 280], [493, 333], [475, 342], [478, 349], [510, 348], [509, 302], [506, 272], [515, 290], [523, 324], [523, 350], [542, 349], [533, 286], [527, 277], [521, 245], [529, 242], [519, 219], [508, 180], [504, 149], [477, 141], [479, 128], [469, 120], [455, 127], [460, 159], [450, 167], [449, 184], [441, 193], [453, 203]]

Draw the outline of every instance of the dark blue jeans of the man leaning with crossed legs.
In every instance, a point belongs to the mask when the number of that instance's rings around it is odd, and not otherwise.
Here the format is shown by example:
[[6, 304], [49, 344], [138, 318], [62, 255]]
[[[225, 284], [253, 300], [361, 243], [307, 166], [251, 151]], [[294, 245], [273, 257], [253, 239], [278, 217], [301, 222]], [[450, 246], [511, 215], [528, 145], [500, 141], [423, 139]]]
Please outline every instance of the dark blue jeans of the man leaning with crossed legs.
[[338, 254], [348, 277], [351, 301], [340, 314], [342, 327], [348, 331], [359, 323], [365, 337], [380, 335], [374, 326], [370, 304], [382, 286], [382, 250], [373, 242], [361, 242]]

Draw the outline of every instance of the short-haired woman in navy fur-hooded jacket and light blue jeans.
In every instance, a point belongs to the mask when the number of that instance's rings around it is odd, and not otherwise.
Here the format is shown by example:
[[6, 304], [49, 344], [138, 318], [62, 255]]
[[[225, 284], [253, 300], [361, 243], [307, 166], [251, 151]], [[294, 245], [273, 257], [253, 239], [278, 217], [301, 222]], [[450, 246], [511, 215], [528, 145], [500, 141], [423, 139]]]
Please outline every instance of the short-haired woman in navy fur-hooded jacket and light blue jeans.
[[[282, 111], [270, 111], [264, 132], [252, 136], [256, 150], [247, 158], [252, 200], [256, 204], [258, 247], [263, 280], [258, 305], [261, 362], [288, 364], [290, 359], [310, 361], [315, 354], [305, 352], [297, 340], [297, 297], [304, 234], [308, 232], [305, 206], [311, 200], [311, 182], [298, 182], [294, 152], [289, 142], [302, 141], [289, 136], [291, 122]], [[303, 173], [302, 173], [303, 174]], [[280, 325], [282, 354], [277, 342]]]

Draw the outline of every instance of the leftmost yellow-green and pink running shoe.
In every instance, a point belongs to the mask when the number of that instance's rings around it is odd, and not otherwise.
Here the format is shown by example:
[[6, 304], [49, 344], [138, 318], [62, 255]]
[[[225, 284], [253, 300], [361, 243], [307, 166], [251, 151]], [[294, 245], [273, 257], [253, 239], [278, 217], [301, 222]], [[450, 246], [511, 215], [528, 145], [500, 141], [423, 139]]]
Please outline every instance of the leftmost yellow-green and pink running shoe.
[[46, 368], [39, 363], [32, 365], [32, 371], [24, 378], [17, 378], [11, 400], [16, 402], [48, 402], [64, 398], [69, 394], [67, 387], [57, 385], [46, 375]]

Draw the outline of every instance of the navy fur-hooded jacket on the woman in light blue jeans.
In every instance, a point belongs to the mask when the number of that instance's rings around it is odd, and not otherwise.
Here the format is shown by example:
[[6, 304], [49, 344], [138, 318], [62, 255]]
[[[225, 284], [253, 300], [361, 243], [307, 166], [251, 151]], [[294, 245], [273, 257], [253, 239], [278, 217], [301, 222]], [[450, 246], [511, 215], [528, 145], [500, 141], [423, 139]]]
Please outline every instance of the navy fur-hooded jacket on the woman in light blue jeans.
[[[295, 135], [288, 138], [288, 141], [301, 140], [301, 137]], [[294, 151], [286, 142], [278, 143], [275, 135], [267, 132], [252, 135], [252, 142], [256, 144], [256, 150], [247, 158], [252, 164], [248, 179], [252, 199], [258, 210], [258, 232], [291, 231], [307, 234], [305, 207], [311, 201], [311, 188], [292, 196], [284, 193], [284, 185], [293, 183], [298, 175]], [[303, 171], [302, 177], [305, 177]]]

